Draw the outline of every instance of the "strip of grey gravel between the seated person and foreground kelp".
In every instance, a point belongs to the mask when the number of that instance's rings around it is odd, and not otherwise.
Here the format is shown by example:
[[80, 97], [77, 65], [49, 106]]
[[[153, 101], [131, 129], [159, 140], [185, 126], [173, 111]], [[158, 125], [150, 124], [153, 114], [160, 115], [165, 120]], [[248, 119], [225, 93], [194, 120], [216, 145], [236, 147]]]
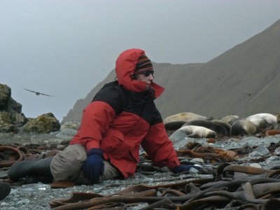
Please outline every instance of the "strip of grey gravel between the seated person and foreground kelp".
[[[12, 186], [10, 195], [0, 201], [1, 210], [43, 210], [50, 209], [48, 202], [71, 197], [71, 192], [99, 193], [101, 195], [111, 195], [123, 190], [128, 186], [144, 184], [157, 186], [159, 184], [177, 183], [187, 179], [210, 178], [209, 175], [183, 174], [172, 176], [170, 172], [155, 172], [151, 174], [141, 174], [137, 172], [134, 178], [126, 180], [103, 181], [93, 186], [74, 186], [73, 188], [52, 189], [43, 183], [27, 184], [23, 186]], [[148, 204], [137, 205], [130, 209], [141, 209]]]

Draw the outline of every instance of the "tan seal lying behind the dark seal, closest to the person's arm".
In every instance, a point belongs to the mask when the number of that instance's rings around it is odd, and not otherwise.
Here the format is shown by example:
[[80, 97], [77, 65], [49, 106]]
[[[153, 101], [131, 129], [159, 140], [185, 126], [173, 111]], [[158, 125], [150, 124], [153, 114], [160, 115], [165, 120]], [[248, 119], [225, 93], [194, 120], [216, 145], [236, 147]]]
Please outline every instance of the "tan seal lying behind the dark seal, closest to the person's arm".
[[212, 120], [213, 118], [207, 118], [204, 116], [197, 115], [196, 113], [191, 113], [191, 112], [182, 112], [182, 113], [177, 113], [173, 116], [169, 116], [163, 120], [164, 124], [171, 123], [171, 122], [176, 122], [176, 121], [191, 121], [191, 120]]

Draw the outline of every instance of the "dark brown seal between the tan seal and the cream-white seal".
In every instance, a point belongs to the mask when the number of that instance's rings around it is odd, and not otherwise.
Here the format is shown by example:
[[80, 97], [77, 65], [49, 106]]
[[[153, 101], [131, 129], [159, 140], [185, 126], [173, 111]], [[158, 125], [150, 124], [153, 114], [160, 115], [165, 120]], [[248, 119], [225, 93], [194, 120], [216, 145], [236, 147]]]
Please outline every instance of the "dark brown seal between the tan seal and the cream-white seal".
[[201, 127], [206, 127], [210, 130], [213, 130], [218, 135], [228, 135], [228, 131], [226, 130], [226, 128], [223, 127], [222, 125], [218, 125], [218, 123], [215, 123], [213, 120], [212, 121], [192, 120], [192, 121], [186, 122], [183, 126], [186, 126], [186, 125], [197, 125], [197, 126], [201, 126]]

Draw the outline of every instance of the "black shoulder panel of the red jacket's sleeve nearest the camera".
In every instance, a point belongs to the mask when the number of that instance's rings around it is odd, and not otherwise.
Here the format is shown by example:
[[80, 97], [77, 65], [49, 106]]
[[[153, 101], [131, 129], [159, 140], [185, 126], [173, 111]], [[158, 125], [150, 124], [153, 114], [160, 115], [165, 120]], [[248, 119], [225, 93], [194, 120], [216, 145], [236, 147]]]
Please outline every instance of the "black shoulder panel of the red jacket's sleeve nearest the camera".
[[123, 107], [125, 106], [123, 90], [117, 82], [105, 84], [92, 99], [92, 102], [95, 101], [106, 102], [112, 106], [116, 114], [123, 111]]

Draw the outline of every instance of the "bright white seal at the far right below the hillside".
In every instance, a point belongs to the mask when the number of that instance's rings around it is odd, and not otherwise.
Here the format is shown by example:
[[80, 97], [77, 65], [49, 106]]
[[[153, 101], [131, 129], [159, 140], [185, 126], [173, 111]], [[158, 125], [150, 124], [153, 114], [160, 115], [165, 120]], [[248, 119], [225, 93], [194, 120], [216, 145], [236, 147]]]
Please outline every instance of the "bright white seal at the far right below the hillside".
[[278, 128], [277, 117], [269, 113], [258, 113], [253, 116], [248, 116], [246, 120], [255, 124], [258, 130]]

